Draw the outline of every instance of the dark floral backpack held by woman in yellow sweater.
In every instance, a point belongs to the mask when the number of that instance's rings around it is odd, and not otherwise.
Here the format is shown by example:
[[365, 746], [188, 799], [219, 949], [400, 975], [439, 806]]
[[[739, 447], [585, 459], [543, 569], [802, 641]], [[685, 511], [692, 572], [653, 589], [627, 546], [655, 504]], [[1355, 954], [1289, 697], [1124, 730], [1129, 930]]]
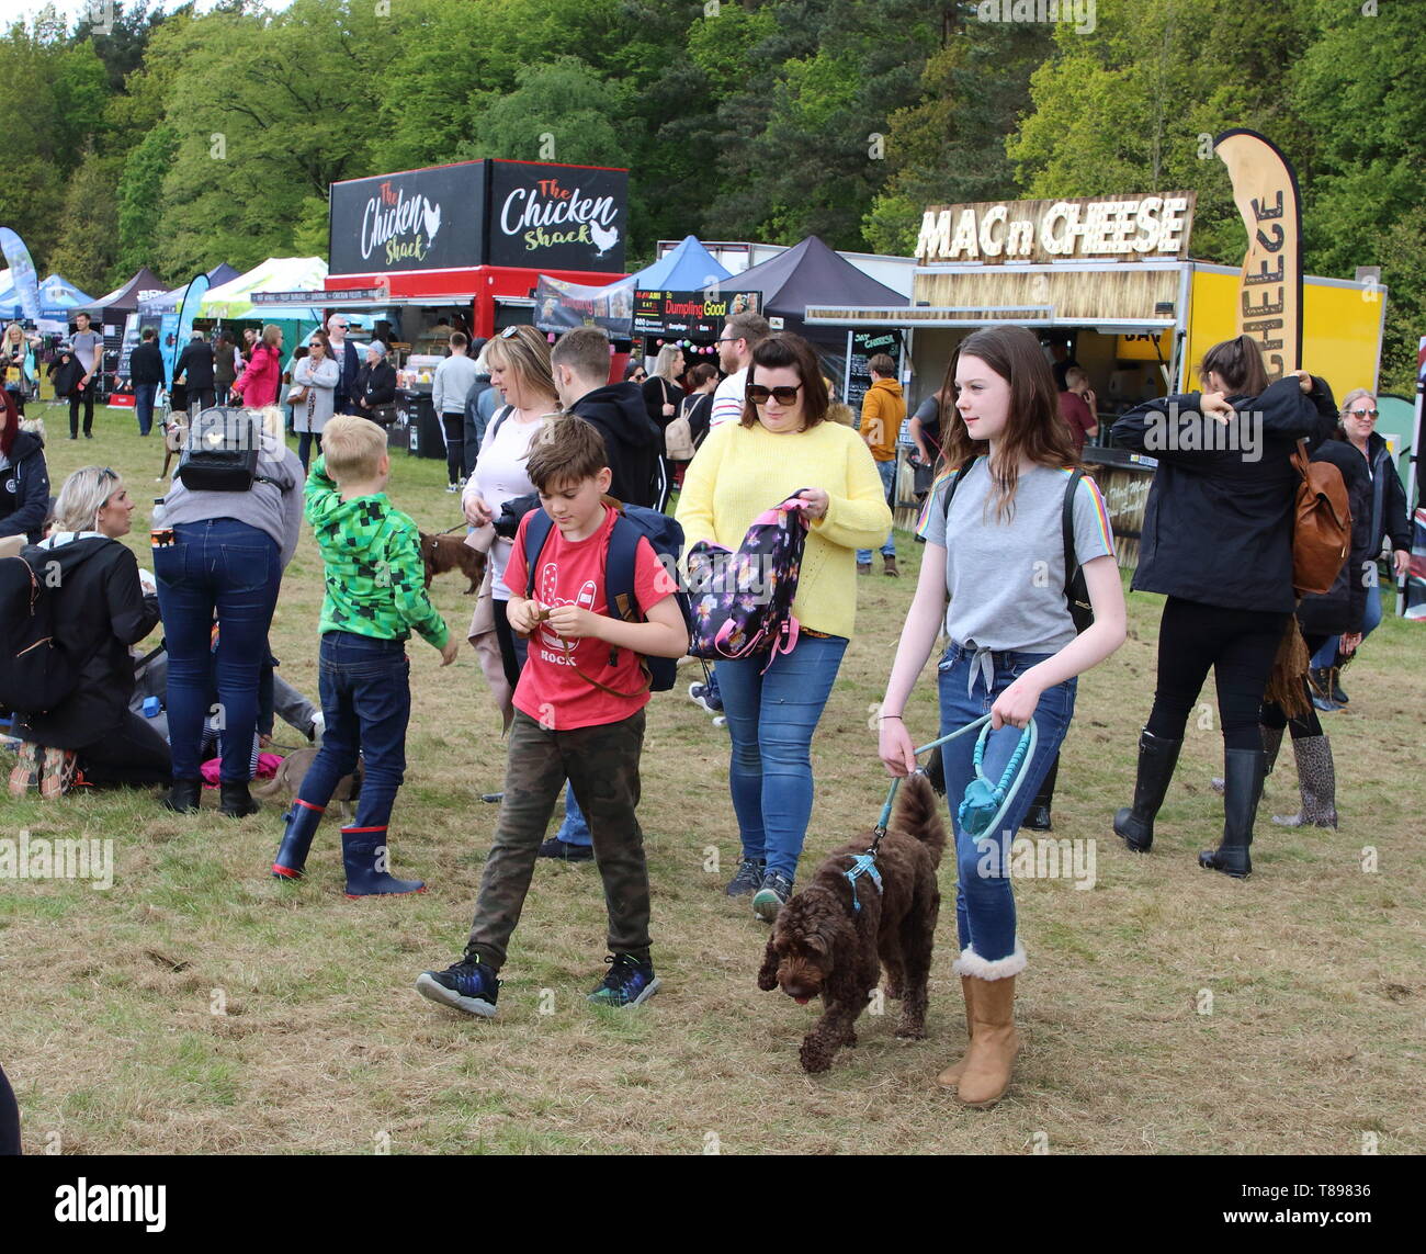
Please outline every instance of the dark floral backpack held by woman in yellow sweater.
[[794, 492], [764, 509], [753, 519], [737, 552], [709, 541], [689, 549], [693, 605], [689, 652], [694, 658], [716, 662], [767, 653], [771, 666], [779, 653], [797, 646], [793, 598], [807, 541], [806, 508], [807, 502]]

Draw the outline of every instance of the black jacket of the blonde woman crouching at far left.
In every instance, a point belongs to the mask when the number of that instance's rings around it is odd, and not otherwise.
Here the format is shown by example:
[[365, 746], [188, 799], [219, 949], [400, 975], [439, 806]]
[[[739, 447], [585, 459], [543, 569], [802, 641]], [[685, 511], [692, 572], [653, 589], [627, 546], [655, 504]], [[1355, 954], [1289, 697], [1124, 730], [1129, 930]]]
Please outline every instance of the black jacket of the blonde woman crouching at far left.
[[158, 598], [145, 596], [138, 562], [104, 536], [26, 549], [41, 566], [58, 562], [54, 638], [86, 658], [80, 682], [58, 706], [34, 715], [17, 735], [54, 749], [83, 749], [108, 736], [128, 715], [134, 662], [128, 646], [158, 623]]

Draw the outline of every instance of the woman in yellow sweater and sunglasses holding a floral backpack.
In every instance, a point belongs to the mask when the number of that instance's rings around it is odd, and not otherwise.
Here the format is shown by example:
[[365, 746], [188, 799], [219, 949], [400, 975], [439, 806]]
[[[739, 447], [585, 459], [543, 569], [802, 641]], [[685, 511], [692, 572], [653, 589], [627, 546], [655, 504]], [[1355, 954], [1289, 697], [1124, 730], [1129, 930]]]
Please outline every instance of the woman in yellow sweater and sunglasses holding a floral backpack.
[[827, 417], [817, 354], [800, 335], [753, 350], [740, 422], [713, 428], [689, 464], [677, 519], [684, 544], [743, 544], [753, 519], [789, 496], [809, 501], [793, 613], [797, 648], [717, 663], [733, 739], [729, 787], [743, 839], [730, 897], [753, 893], [771, 922], [791, 894], [811, 817], [811, 738], [837, 679], [857, 609], [857, 548], [891, 526], [881, 476], [856, 431]]

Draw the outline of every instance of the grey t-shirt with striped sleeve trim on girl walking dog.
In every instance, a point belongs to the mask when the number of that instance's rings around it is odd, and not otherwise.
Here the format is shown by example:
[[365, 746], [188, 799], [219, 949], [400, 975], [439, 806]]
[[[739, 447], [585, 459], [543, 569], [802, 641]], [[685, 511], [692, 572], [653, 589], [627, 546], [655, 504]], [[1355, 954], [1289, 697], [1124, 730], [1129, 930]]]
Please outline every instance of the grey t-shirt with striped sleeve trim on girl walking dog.
[[[945, 545], [945, 589], [951, 605], [945, 633], [973, 649], [1055, 653], [1075, 638], [1065, 606], [1061, 515], [1070, 471], [1035, 467], [1020, 476], [1014, 512], [1001, 521], [991, 495], [987, 459], [980, 458], [951, 498], [937, 488], [921, 535]], [[947, 534], [950, 542], [947, 542]], [[1094, 479], [1079, 481], [1074, 502], [1074, 552], [1082, 566], [1114, 552], [1114, 534]]]

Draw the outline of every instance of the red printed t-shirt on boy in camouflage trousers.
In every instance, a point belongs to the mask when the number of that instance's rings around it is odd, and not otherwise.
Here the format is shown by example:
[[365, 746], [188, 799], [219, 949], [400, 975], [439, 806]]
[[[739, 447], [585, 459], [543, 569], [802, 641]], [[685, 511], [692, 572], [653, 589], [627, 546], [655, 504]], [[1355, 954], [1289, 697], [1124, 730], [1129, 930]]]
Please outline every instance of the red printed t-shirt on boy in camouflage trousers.
[[[525, 534], [535, 514], [520, 519], [515, 534], [515, 548], [505, 568], [505, 586], [515, 596], [529, 596], [525, 586], [529, 562], [525, 558]], [[540, 605], [578, 605], [595, 613], [609, 613], [605, 599], [605, 564], [609, 556], [609, 534], [615, 529], [617, 514], [605, 506], [605, 521], [599, 529], [582, 541], [570, 541], [558, 526], [550, 528], [545, 548], [535, 566], [533, 595]], [[649, 609], [677, 591], [673, 578], [663, 568], [647, 536], [639, 538], [633, 559], [633, 595], [639, 611], [647, 616]], [[645, 675], [639, 666], [639, 655], [633, 649], [615, 649], [615, 665], [609, 665], [612, 646], [605, 641], [565, 642], [550, 631], [549, 623], [539, 623], [529, 638], [529, 658], [515, 686], [515, 708], [556, 732], [575, 728], [595, 728], [602, 723], [617, 723], [649, 703], [649, 693], [639, 692], [645, 686]], [[603, 689], [586, 683], [575, 668], [590, 679], [597, 679], [615, 692], [633, 692], [637, 696], [613, 696]]]

